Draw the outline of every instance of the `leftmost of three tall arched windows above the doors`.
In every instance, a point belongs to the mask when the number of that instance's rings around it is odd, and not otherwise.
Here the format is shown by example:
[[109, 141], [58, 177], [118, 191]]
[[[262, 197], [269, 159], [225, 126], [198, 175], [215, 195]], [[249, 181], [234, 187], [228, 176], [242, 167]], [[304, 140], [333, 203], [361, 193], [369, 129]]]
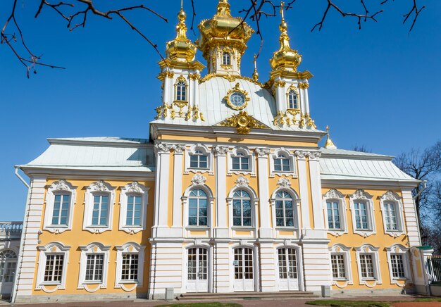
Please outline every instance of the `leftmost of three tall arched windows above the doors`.
[[206, 193], [201, 189], [194, 189], [190, 192], [188, 199], [188, 225], [208, 225], [208, 199]]

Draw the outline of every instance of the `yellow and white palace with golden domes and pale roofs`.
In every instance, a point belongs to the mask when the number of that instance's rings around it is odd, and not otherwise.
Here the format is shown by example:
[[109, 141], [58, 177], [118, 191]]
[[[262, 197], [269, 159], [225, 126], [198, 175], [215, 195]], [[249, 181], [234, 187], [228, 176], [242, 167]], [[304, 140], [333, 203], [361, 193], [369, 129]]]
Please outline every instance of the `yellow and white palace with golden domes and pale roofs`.
[[146, 139], [49, 139], [17, 166], [31, 183], [15, 301], [423, 289], [419, 182], [318, 130], [283, 14], [264, 83], [241, 75], [254, 30], [227, 0], [197, 42], [185, 19]]

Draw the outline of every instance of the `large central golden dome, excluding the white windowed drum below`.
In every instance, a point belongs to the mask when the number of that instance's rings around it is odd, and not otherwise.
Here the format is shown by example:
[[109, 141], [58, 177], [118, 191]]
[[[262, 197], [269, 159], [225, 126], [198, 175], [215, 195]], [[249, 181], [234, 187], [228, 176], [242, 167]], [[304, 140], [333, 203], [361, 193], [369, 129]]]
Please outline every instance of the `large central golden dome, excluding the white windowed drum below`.
[[201, 37], [198, 39], [198, 48], [206, 57], [209, 47], [217, 44], [232, 44], [241, 54], [247, 49], [247, 42], [254, 30], [242, 18], [232, 17], [228, 0], [219, 0], [216, 14], [211, 19], [199, 23]]

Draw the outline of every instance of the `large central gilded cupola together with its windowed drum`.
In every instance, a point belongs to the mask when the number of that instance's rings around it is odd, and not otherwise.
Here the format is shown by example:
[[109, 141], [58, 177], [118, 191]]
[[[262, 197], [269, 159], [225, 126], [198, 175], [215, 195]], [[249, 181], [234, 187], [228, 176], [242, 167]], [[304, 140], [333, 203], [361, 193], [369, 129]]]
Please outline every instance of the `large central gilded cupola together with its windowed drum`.
[[254, 30], [240, 17], [232, 17], [227, 0], [219, 0], [216, 14], [198, 25], [199, 50], [209, 73], [240, 75], [240, 59]]

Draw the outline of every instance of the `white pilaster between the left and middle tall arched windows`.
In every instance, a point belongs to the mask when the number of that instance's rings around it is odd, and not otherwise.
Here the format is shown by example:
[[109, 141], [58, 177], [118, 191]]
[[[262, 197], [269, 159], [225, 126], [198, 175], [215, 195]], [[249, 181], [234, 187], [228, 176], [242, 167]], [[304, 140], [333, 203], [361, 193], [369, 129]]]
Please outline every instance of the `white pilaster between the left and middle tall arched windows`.
[[214, 234], [216, 238], [229, 236], [227, 223], [227, 152], [226, 146], [215, 146], [213, 153], [216, 156], [216, 226]]

